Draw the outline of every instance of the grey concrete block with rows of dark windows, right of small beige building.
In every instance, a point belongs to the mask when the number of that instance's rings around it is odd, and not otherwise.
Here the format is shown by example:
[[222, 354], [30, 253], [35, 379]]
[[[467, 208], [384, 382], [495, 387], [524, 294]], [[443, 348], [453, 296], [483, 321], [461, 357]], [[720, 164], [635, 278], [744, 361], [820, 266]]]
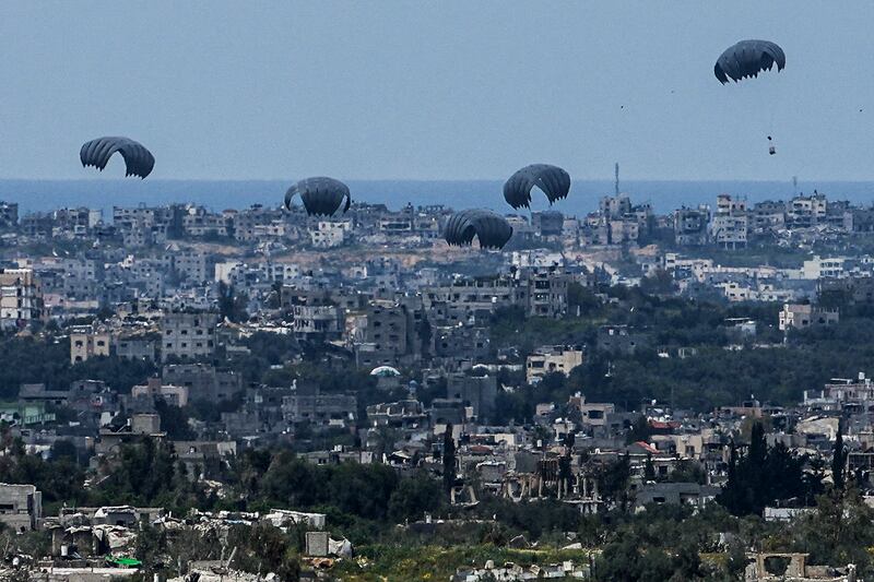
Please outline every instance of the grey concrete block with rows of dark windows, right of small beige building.
[[200, 359], [215, 354], [218, 314], [167, 312], [161, 318], [161, 360]]

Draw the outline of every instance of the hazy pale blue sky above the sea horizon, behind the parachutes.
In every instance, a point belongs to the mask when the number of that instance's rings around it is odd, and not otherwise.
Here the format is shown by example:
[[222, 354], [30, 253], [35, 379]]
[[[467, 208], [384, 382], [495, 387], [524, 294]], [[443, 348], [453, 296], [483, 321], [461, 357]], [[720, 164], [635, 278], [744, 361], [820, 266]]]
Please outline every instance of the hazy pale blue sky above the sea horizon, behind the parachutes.
[[[122, 134], [172, 179], [874, 179], [872, 22], [870, 0], [2, 2], [0, 177], [93, 178], [79, 146]], [[787, 69], [720, 85], [743, 38]]]

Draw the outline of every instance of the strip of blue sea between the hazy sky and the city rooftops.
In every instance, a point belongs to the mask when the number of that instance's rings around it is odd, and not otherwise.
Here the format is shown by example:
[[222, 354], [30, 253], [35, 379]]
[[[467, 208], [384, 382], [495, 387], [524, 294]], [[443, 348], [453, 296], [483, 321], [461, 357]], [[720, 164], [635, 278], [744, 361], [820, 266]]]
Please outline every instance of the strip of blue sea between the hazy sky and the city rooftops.
[[[504, 201], [503, 182], [497, 180], [350, 180], [353, 200], [383, 203], [399, 209], [413, 205], [444, 204], [454, 209], [488, 207], [498, 212], [512, 209]], [[251, 204], [268, 206], [282, 203], [290, 181], [281, 180], [0, 180], [0, 200], [17, 202], [22, 214], [64, 206], [88, 206], [111, 211], [114, 205], [160, 205], [192, 202], [215, 211], [245, 209]], [[682, 205], [708, 203], [717, 194], [746, 197], [751, 202], [787, 200], [796, 191], [817, 190], [829, 200], [849, 200], [857, 204], [874, 202], [874, 182], [791, 182], [766, 181], [647, 181], [627, 180], [621, 190], [635, 203], [650, 202], [657, 212], [669, 213]], [[598, 206], [598, 200], [613, 193], [606, 180], [575, 181], [570, 195], [554, 205], [565, 214], [582, 216]], [[534, 192], [533, 210], [546, 210], [543, 194]], [[110, 216], [111, 214], [105, 214]]]

